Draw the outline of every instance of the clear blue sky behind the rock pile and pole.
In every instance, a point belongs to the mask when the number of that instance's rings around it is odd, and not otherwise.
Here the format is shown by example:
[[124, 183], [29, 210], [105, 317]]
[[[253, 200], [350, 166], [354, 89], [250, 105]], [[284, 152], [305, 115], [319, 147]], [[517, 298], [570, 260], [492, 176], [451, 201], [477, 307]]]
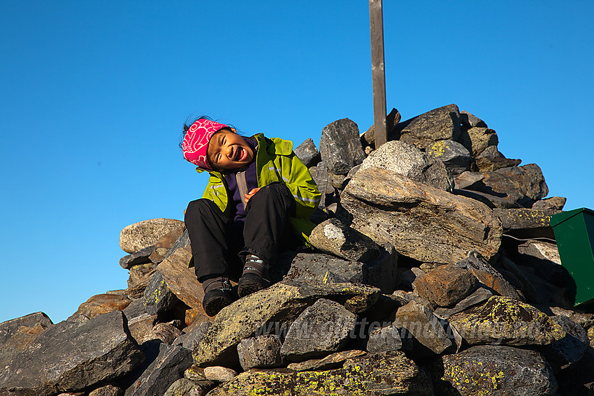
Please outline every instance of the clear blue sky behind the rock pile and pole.
[[[594, 3], [384, 1], [386, 92], [403, 119], [456, 103], [593, 208]], [[54, 322], [126, 288], [119, 231], [182, 219], [205, 175], [181, 127], [319, 142], [372, 124], [367, 1], [0, 0], [0, 322]]]

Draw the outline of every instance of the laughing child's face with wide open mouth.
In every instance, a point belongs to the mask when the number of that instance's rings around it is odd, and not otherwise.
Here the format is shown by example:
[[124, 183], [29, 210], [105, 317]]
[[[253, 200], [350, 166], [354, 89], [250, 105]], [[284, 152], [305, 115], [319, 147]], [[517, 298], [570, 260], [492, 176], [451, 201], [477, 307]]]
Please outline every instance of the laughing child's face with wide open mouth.
[[222, 170], [242, 168], [254, 159], [254, 150], [244, 138], [231, 131], [217, 132], [208, 142], [210, 163]]

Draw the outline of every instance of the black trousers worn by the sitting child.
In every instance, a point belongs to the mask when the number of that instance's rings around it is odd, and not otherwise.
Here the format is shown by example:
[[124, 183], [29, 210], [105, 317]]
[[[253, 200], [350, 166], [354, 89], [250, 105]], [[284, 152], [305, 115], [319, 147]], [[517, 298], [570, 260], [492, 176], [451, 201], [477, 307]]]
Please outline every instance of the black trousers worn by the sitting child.
[[280, 247], [294, 239], [289, 217], [295, 215], [295, 207], [291, 191], [280, 183], [262, 187], [249, 199], [245, 223], [226, 217], [212, 200], [191, 201], [184, 221], [198, 281], [238, 277], [247, 254], [274, 265]]

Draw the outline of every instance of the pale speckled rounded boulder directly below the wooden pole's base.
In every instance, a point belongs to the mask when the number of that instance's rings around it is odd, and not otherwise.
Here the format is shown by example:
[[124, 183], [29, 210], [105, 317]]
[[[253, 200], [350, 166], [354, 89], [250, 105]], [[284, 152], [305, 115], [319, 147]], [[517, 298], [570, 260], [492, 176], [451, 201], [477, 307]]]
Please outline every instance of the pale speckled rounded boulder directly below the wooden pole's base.
[[436, 189], [451, 192], [454, 188], [454, 179], [441, 161], [427, 156], [406, 142], [386, 142], [369, 154], [358, 172], [372, 167], [390, 170]]

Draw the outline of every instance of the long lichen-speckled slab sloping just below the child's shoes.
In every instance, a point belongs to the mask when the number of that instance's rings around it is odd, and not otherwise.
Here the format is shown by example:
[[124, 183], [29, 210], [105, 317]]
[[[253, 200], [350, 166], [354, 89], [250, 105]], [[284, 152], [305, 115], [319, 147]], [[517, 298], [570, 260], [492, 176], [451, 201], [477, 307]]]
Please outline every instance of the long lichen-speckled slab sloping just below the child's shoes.
[[[319, 298], [334, 300], [356, 314], [377, 302], [379, 289], [356, 284], [287, 284], [269, 288], [240, 298], [222, 309], [194, 349], [198, 366], [239, 364], [237, 345], [253, 337], [259, 326], [281, 318], [291, 321]], [[261, 333], [262, 334], [262, 333]]]

